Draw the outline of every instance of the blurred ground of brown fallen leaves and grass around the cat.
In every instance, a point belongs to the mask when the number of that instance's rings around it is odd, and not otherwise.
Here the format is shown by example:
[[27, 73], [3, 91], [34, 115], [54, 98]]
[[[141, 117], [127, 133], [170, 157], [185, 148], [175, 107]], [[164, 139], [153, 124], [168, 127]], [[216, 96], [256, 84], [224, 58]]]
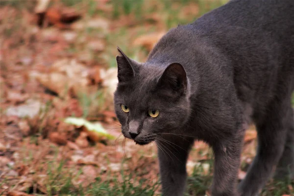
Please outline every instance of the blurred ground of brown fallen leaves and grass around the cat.
[[[113, 111], [117, 47], [144, 62], [170, 28], [227, 1], [0, 0], [0, 195], [160, 195], [155, 145], [125, 140]], [[240, 180], [255, 147], [252, 126]], [[210, 195], [212, 157], [195, 143], [186, 196]], [[293, 193], [271, 180], [262, 196]]]

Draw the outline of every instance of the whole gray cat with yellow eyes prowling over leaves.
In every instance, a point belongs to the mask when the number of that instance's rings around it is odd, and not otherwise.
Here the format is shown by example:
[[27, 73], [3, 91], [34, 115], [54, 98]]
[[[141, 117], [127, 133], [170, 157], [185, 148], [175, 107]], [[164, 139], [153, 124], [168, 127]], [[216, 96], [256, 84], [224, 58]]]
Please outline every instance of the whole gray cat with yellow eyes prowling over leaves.
[[[195, 139], [215, 154], [212, 196], [257, 196], [275, 168], [294, 177], [294, 0], [232, 0], [171, 29], [145, 63], [119, 51], [116, 114], [124, 137], [156, 142], [164, 196], [183, 195]], [[257, 154], [237, 186], [251, 121]]]

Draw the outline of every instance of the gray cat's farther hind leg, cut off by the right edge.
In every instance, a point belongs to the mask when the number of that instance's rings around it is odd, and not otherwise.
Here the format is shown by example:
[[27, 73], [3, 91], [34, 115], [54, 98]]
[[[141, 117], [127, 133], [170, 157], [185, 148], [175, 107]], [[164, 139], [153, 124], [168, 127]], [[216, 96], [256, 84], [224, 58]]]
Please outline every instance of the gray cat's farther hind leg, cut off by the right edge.
[[289, 128], [283, 154], [275, 171], [276, 179], [294, 179], [294, 110], [292, 110], [286, 121]]

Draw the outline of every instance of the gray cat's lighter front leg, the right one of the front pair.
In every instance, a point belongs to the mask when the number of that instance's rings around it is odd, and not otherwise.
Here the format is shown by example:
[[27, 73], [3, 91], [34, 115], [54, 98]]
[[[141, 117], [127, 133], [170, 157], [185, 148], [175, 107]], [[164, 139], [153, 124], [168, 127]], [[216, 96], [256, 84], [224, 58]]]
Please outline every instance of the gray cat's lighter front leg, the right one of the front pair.
[[239, 196], [237, 176], [243, 134], [212, 145], [215, 153], [212, 196]]

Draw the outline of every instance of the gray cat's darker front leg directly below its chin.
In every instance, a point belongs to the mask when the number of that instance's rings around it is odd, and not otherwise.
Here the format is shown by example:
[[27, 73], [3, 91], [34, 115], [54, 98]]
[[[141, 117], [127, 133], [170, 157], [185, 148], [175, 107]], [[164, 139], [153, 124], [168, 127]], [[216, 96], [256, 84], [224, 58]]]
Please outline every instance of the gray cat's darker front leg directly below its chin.
[[159, 137], [156, 140], [163, 196], [183, 196], [186, 185], [186, 162], [194, 140]]

